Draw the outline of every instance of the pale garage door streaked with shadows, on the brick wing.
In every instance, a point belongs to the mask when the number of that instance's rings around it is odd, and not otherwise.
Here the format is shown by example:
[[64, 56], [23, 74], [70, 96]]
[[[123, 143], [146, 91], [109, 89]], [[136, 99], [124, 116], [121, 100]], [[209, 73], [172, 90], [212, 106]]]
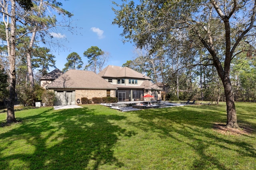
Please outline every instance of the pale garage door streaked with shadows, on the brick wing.
[[76, 104], [75, 91], [55, 91], [54, 93], [57, 98], [56, 106]]

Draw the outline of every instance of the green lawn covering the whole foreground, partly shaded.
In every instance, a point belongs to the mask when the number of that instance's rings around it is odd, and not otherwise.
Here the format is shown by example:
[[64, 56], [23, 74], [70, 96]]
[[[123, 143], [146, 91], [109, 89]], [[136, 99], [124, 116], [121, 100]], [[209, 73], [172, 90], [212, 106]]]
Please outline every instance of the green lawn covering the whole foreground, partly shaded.
[[[236, 103], [249, 133], [219, 133], [224, 104], [120, 112], [100, 105], [16, 111], [0, 127], [1, 169], [256, 169], [256, 104]], [[4, 123], [6, 113], [0, 113]]]

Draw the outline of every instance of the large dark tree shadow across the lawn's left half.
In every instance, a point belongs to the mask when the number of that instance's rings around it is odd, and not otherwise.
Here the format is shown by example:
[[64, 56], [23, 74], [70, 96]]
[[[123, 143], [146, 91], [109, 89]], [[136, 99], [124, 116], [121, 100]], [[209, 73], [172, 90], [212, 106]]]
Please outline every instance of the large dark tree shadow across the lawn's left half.
[[[0, 139], [5, 138], [8, 143], [0, 147], [0, 167], [11, 169], [12, 162], [23, 162], [21, 167], [28, 169], [98, 169], [104, 164], [122, 167], [112, 147], [118, 134], [128, 137], [135, 134], [110, 123], [122, 119], [126, 117], [95, 114], [94, 109], [86, 107], [25, 117], [23, 121], [32, 120], [31, 123], [0, 133]], [[8, 148], [21, 142], [22, 150], [8, 153]]]

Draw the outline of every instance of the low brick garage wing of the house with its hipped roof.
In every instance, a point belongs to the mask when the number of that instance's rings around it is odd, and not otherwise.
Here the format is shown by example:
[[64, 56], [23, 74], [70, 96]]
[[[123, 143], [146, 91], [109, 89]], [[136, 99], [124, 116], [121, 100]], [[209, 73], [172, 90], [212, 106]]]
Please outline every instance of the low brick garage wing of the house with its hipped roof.
[[[55, 105], [81, 104], [82, 97], [114, 97], [116, 87], [92, 71], [68, 70], [49, 85], [57, 98]], [[79, 99], [79, 100], [78, 100]]]

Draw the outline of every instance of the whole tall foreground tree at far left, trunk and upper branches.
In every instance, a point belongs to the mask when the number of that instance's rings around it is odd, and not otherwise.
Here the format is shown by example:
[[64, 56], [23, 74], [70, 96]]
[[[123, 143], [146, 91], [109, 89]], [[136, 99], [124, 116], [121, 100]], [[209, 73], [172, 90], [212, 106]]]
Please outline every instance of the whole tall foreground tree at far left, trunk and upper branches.
[[[36, 2], [39, 2], [37, 0], [33, 1], [34, 4]], [[46, 4], [53, 3], [53, 7], [55, 9], [58, 8], [58, 3], [56, 0], [51, 1], [43, 1]], [[2, 14], [3, 23], [5, 26], [5, 41], [6, 41], [6, 47], [7, 47], [7, 58], [8, 58], [8, 70], [6, 70], [9, 74], [9, 80], [10, 80], [10, 86], [9, 86], [9, 99], [8, 99], [8, 105], [7, 105], [7, 123], [16, 122], [16, 118], [14, 115], [14, 101], [16, 96], [16, 47], [18, 43], [26, 43], [22, 41], [22, 37], [29, 36], [30, 33], [36, 31], [36, 30], [27, 30], [26, 28], [24, 33], [20, 34], [16, 32], [16, 29], [18, 25], [22, 25], [22, 27], [25, 27], [26, 22], [26, 16], [29, 16], [29, 11], [32, 9], [33, 3], [32, 0], [2, 0], [0, 1], [0, 13]], [[24, 10], [25, 9], [25, 10]], [[60, 14], [60, 10], [56, 11], [58, 14]], [[52, 15], [49, 14], [49, 15]], [[47, 18], [47, 17], [46, 17]], [[36, 27], [37, 31], [41, 30], [42, 27]], [[45, 28], [46, 30], [47, 28]], [[2, 36], [1, 36], [2, 37]]]

